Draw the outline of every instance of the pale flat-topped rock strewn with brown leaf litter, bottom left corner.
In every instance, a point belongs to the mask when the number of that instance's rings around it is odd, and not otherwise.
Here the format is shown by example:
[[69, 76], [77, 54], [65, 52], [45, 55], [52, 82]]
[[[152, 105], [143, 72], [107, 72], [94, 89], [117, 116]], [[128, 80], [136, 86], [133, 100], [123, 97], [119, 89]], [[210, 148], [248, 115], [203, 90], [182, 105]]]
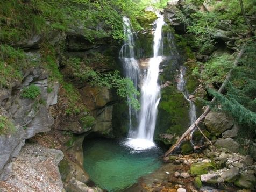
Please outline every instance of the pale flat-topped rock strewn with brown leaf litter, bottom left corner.
[[0, 181], [0, 191], [62, 191], [58, 163], [63, 159], [60, 150], [25, 144], [13, 161], [13, 171]]

